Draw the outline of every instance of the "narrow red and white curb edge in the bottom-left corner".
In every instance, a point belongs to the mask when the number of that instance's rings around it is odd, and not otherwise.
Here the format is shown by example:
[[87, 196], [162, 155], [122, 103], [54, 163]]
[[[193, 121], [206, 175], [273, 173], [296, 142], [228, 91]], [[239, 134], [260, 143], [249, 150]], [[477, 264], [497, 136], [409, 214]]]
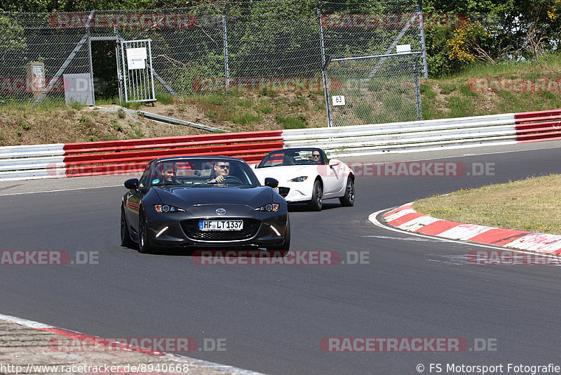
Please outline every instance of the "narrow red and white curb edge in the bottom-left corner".
[[[250, 371], [246, 369], [239, 369], [238, 367], [228, 366], [226, 364], [219, 364], [215, 362], [208, 362], [204, 360], [197, 360], [196, 358], [185, 357], [183, 355], [175, 355], [170, 353], [163, 353], [155, 350], [149, 350], [145, 348], [133, 348], [130, 346], [123, 346], [123, 343], [118, 341], [105, 341], [104, 339], [97, 337], [97, 336], [90, 336], [87, 334], [81, 334], [76, 331], [70, 331], [68, 329], [53, 327], [48, 324], [43, 324], [39, 322], [34, 322], [32, 320], [25, 320], [20, 317], [13, 317], [10, 315], [2, 315], [0, 314], [0, 320], [4, 320], [6, 322], [11, 322], [14, 324], [19, 324], [24, 327], [36, 329], [38, 331], [48, 332], [50, 334], [58, 334], [61, 336], [66, 336], [72, 338], [74, 340], [81, 340], [81, 341], [104, 341], [105, 345], [114, 348], [125, 348], [126, 350], [130, 350], [131, 352], [142, 353], [144, 355], [151, 355], [153, 357], [158, 357], [160, 359], [166, 359], [174, 362], [182, 362], [185, 364], [192, 364], [200, 367], [207, 367], [208, 369], [212, 369], [215, 371], [225, 371], [229, 374], [236, 374], [236, 375], [264, 375], [259, 372]], [[27, 347], [29, 351], [30, 348]]]

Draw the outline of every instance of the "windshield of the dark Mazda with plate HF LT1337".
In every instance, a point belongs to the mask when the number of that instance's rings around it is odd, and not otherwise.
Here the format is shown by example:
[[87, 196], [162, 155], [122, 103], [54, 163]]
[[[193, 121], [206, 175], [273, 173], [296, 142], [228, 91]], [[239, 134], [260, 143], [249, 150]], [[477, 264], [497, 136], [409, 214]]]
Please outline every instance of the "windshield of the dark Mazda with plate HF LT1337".
[[248, 187], [259, 182], [245, 162], [236, 159], [176, 158], [154, 163], [147, 185], [219, 185]]

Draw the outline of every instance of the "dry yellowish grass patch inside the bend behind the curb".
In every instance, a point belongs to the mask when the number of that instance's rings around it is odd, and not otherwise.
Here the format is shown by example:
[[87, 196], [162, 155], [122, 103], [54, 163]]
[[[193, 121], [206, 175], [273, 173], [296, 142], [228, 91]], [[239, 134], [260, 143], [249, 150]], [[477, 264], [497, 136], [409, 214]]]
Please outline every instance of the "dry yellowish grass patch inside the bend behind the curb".
[[459, 223], [561, 235], [561, 175], [459, 190], [421, 199], [413, 209]]

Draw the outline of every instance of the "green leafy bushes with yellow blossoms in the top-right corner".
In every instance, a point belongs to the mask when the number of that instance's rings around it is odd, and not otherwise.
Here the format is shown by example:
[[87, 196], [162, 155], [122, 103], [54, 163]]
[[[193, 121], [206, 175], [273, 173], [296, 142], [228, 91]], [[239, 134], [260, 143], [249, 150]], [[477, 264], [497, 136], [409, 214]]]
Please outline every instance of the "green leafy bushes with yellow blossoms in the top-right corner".
[[534, 60], [555, 51], [561, 37], [560, 0], [426, 0], [423, 11], [466, 15], [468, 20], [455, 27], [426, 29], [433, 76], [457, 72], [476, 60]]

